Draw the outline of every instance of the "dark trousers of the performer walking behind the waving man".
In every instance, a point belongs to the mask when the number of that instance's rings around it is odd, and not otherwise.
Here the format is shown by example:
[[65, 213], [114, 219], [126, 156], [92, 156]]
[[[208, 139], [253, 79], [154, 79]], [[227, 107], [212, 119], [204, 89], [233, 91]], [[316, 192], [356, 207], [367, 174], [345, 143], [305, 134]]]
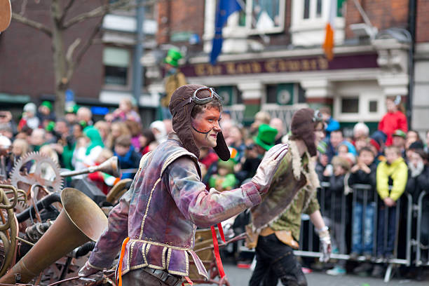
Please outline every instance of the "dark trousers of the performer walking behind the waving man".
[[282, 243], [275, 234], [259, 236], [256, 247], [257, 264], [249, 286], [282, 285], [306, 286], [307, 281], [293, 249]]

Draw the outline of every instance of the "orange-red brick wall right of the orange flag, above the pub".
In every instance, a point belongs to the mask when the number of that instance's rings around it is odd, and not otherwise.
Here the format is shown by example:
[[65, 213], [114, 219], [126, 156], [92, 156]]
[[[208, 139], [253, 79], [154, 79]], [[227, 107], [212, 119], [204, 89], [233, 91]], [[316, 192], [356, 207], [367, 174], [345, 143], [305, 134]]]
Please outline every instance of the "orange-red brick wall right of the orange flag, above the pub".
[[[420, 0], [424, 1], [424, 0]], [[359, 0], [372, 25], [380, 30], [389, 27], [408, 27], [408, 0]], [[354, 38], [350, 24], [363, 23], [353, 0], [346, 4], [346, 38]]]

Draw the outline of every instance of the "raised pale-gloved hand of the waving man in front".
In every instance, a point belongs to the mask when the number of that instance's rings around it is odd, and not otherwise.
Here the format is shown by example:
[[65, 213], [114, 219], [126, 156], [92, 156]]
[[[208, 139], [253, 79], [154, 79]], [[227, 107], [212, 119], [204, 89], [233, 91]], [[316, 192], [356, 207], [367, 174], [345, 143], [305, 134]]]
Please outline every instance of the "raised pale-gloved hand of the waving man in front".
[[259, 186], [259, 192], [265, 193], [273, 181], [275, 171], [277, 171], [282, 158], [285, 157], [289, 151], [289, 145], [277, 144], [268, 151], [266, 151], [264, 158], [257, 169], [256, 174], [252, 178], [252, 182]]

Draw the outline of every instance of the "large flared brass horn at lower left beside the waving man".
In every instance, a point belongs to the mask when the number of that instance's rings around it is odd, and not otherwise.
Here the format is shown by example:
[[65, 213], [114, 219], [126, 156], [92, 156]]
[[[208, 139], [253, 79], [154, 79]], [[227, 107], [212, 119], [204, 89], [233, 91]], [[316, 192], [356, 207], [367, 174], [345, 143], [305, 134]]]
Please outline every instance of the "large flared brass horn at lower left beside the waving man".
[[107, 217], [100, 207], [77, 189], [62, 190], [63, 209], [40, 240], [25, 254], [0, 283], [14, 284], [20, 274], [20, 283], [27, 283], [44, 268], [53, 264], [74, 248], [89, 240], [98, 240], [107, 227]]

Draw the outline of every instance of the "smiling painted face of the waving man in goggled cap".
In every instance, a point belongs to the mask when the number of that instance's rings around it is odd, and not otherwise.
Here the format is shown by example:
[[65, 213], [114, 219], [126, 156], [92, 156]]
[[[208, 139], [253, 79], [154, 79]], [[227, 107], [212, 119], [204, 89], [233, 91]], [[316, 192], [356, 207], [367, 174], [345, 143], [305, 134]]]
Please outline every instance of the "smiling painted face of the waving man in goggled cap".
[[216, 147], [217, 133], [221, 132], [219, 125], [220, 111], [217, 107], [207, 107], [191, 118], [193, 141], [198, 149], [202, 147]]

